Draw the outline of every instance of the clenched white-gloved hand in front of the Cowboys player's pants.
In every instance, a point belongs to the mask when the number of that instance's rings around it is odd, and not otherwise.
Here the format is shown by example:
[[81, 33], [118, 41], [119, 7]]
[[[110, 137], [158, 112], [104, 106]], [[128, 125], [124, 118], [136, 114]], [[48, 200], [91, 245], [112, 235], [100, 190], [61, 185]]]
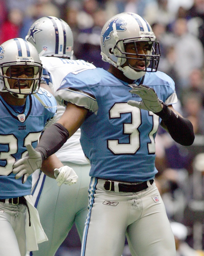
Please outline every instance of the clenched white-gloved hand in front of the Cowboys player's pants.
[[78, 180], [78, 176], [75, 171], [67, 165], [54, 169], [54, 176], [56, 177], [57, 185], [61, 186], [63, 183], [72, 185]]

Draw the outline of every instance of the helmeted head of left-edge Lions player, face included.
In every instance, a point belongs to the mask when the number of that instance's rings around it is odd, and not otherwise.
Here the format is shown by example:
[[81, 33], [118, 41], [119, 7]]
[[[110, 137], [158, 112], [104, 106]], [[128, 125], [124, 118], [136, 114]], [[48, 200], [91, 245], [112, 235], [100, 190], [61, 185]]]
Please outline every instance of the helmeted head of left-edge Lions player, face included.
[[42, 64], [35, 47], [21, 38], [10, 39], [0, 46], [0, 91], [16, 98], [38, 92]]

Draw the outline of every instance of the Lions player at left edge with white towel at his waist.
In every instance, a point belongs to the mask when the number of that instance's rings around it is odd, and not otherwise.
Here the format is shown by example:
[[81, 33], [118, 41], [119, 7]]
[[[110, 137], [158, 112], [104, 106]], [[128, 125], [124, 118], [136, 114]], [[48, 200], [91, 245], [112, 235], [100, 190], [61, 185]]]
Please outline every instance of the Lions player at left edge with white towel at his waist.
[[[41, 132], [56, 117], [56, 100], [48, 91], [39, 89], [41, 78], [42, 64], [31, 43], [14, 38], [0, 46], [1, 256], [25, 256], [28, 249], [38, 250], [38, 243], [48, 239], [31, 202], [32, 177], [27, 173], [21, 180], [20, 173], [18, 176], [12, 172], [14, 162], [27, 155], [26, 147], [37, 146]], [[30, 164], [38, 168], [35, 162]], [[54, 168], [59, 168], [55, 171], [56, 176], [59, 173], [58, 183], [73, 182], [69, 173], [74, 171], [63, 166], [55, 155], [48, 158], [45, 167], [52, 178]]]

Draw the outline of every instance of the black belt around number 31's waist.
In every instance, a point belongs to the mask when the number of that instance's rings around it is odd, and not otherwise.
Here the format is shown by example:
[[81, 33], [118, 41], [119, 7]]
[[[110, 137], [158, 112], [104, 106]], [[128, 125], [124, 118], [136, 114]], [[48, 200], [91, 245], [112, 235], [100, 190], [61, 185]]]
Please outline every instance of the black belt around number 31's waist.
[[[151, 179], [150, 184], [152, 185], [153, 182], [154, 179]], [[105, 181], [103, 186], [107, 191], [115, 191], [114, 181]], [[148, 188], [147, 181], [141, 182], [139, 184], [118, 183], [119, 192], [140, 192], [146, 188]]]

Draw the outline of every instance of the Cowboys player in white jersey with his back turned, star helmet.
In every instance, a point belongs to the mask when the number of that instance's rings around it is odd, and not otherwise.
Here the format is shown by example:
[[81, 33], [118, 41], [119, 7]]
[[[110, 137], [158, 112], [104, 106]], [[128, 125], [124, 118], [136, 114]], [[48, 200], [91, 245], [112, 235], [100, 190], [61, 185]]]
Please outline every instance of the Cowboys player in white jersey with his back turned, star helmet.
[[[41, 88], [48, 87], [52, 94], [68, 73], [96, 68], [83, 60], [72, 60], [73, 35], [70, 26], [62, 19], [47, 16], [36, 20], [26, 39], [35, 46], [42, 61]], [[56, 120], [60, 119], [64, 111], [64, 106], [57, 106]], [[32, 202], [37, 207], [48, 241], [39, 244], [38, 251], [30, 252], [30, 255], [54, 256], [73, 224], [82, 240], [87, 215], [90, 164], [79, 139], [80, 129], [56, 152], [61, 162], [77, 173], [77, 184], [56, 186], [55, 180], [41, 171], [35, 171], [33, 175], [37, 181], [35, 183], [33, 179]]]

